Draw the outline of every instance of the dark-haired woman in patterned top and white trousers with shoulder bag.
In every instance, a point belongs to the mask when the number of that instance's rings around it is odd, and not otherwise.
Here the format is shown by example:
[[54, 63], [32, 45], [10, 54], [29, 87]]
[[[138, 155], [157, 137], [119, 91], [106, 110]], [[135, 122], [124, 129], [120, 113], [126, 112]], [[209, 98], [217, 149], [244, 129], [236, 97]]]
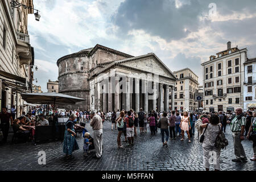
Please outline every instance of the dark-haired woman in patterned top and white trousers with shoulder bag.
[[207, 171], [210, 168], [210, 158], [212, 155], [209, 152], [214, 151], [214, 171], [220, 170], [220, 152], [221, 148], [215, 147], [215, 140], [217, 138], [218, 133], [221, 131], [221, 123], [217, 114], [212, 114], [210, 117], [210, 123], [205, 123], [201, 125], [202, 128], [205, 128], [204, 131], [204, 141], [202, 144], [203, 152], [204, 152], [204, 167]]

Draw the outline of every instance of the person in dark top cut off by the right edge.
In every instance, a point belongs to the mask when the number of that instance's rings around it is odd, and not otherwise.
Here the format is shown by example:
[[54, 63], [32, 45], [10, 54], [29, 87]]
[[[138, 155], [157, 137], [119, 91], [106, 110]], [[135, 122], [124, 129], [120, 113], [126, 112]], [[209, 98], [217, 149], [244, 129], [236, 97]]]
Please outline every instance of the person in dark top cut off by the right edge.
[[253, 157], [250, 160], [256, 161], [256, 111], [254, 111], [253, 117], [251, 118], [252, 122], [246, 138], [253, 141]]

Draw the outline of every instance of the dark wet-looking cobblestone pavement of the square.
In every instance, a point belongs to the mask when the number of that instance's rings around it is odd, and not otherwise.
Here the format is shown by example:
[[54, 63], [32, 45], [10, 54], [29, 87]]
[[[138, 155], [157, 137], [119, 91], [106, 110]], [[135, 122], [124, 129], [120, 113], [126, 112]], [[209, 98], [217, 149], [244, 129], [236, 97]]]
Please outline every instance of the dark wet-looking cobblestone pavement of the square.
[[[89, 123], [86, 123], [86, 129], [92, 133]], [[229, 145], [221, 152], [221, 170], [255, 171], [255, 162], [248, 160], [247, 163], [238, 164], [231, 161], [234, 158], [233, 138], [229, 126], [226, 130]], [[148, 128], [146, 134], [138, 134], [133, 147], [118, 149], [117, 130], [112, 131], [111, 123], [105, 122], [104, 154], [101, 159], [93, 159], [94, 152], [89, 154], [88, 158], [83, 157], [82, 137], [77, 137], [80, 150], [73, 152], [73, 158], [69, 160], [64, 158], [63, 144], [60, 141], [40, 143], [37, 146], [31, 143], [6, 144], [0, 146], [0, 170], [204, 170], [203, 150], [197, 133], [191, 143], [188, 143], [187, 137], [184, 141], [177, 137], [168, 141], [168, 147], [163, 147], [160, 130], [158, 129], [154, 136], [151, 136], [149, 131]], [[126, 143], [122, 144], [126, 146]], [[242, 144], [247, 158], [251, 158], [252, 143], [244, 140]], [[46, 165], [38, 164], [39, 151], [46, 152]]]

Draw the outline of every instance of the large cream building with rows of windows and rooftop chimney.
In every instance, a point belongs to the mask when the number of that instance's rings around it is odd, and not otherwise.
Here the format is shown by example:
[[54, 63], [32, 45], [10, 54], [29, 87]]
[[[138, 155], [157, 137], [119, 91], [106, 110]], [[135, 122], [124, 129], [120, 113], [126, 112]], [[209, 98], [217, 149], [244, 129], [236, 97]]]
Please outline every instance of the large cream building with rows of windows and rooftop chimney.
[[243, 107], [244, 64], [247, 49], [232, 48], [210, 56], [203, 67], [204, 108], [207, 111], [232, 111]]

